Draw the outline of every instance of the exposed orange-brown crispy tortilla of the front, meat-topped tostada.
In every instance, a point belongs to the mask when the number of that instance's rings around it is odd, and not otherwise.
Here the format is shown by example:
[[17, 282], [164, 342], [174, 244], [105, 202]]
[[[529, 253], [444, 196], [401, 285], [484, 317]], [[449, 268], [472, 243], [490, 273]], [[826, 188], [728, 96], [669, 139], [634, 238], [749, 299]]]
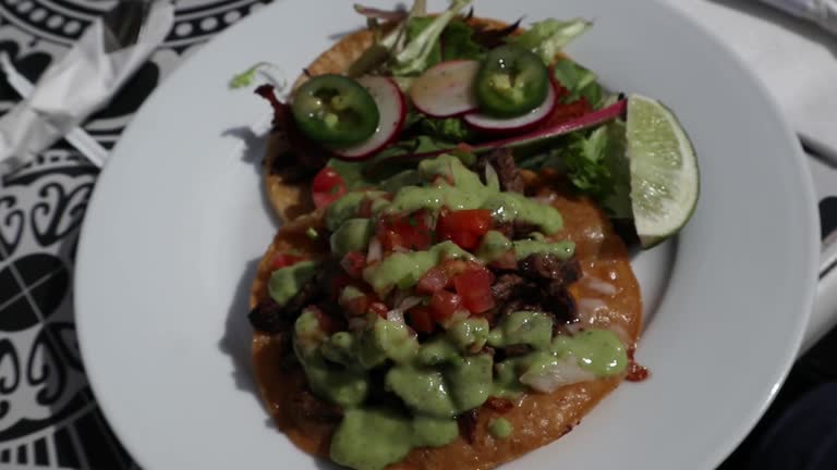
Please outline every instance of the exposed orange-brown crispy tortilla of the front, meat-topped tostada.
[[[640, 287], [631, 270], [622, 240], [614, 233], [605, 214], [590, 200], [565, 197], [551, 189], [545, 180], [530, 178], [530, 194], [554, 198], [561, 212], [565, 228], [559, 238], [577, 244], [577, 256], [583, 277], [570, 287], [579, 306], [581, 323], [607, 327], [634, 345], [641, 326], [642, 302]], [[325, 249], [308, 239], [308, 226], [322, 225], [322, 215], [301, 218], [282, 227], [258, 267], [251, 295], [251, 308], [266, 299], [274, 255], [296, 248], [316, 255]], [[328, 458], [328, 447], [335, 424], [306, 420], [294, 412], [294, 397], [305, 393], [305, 376], [301, 368], [282, 369], [279, 358], [287, 350], [287, 337], [256, 332], [253, 338], [253, 362], [256, 380], [267, 409], [282, 430], [300, 448]], [[476, 470], [496, 467], [537, 447], [546, 445], [575, 426], [582, 417], [612, 391], [623, 376], [601, 379], [568, 385], [551, 394], [526, 394], [514, 408], [500, 413], [484, 405], [478, 413], [476, 438], [473, 444], [458, 437], [438, 448], [411, 452], [390, 470]], [[488, 432], [488, 422], [502, 416], [511, 422], [513, 433], [497, 440]]]

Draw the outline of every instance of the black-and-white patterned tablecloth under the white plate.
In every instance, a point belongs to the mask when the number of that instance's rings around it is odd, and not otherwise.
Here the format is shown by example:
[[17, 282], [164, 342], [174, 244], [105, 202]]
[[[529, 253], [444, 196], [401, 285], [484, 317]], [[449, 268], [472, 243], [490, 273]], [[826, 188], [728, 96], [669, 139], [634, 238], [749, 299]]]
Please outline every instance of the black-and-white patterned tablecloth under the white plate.
[[[96, 0], [0, 0], [0, 50], [34, 82], [93, 18], [112, 4]], [[174, 26], [165, 45], [113, 102], [84, 126], [86, 131], [111, 148], [142, 102], [181, 61], [263, 5], [256, 0], [178, 1]], [[19, 100], [5, 83], [0, 83], [0, 113]], [[830, 193], [824, 188], [837, 188], [837, 171], [822, 165], [816, 169], [820, 195], [825, 198]], [[96, 406], [73, 323], [73, 258], [97, 174], [96, 168], [62, 141], [7, 177], [0, 190], [3, 468], [136, 467]], [[837, 212], [834, 206], [821, 203], [821, 208]]]

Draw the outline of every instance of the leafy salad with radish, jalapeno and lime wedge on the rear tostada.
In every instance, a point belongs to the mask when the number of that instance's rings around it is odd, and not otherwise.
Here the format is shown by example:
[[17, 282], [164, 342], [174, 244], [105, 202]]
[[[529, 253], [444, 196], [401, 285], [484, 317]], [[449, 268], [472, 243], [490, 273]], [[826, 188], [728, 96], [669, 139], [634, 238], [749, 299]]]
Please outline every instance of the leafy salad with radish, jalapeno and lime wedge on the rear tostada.
[[326, 165], [342, 181], [326, 188], [337, 195], [424, 158], [507, 147], [519, 168], [555, 169], [611, 218], [635, 220], [644, 245], [676, 233], [698, 199], [694, 151], [658, 101], [614, 92], [562, 54], [593, 24], [492, 27], [464, 12], [470, 3], [453, 0], [437, 15], [424, 0], [409, 11], [356, 5], [374, 44], [344, 73], [310, 77], [289, 103], [259, 89], [291, 121], [292, 144], [302, 141], [282, 160]]

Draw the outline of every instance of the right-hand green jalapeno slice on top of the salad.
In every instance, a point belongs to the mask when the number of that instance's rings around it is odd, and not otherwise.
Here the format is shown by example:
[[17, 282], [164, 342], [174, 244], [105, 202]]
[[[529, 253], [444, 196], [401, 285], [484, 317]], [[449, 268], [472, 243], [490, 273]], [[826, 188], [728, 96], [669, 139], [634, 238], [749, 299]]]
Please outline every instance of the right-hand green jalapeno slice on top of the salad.
[[544, 102], [549, 71], [536, 54], [506, 45], [488, 52], [475, 81], [474, 92], [482, 112], [513, 118]]

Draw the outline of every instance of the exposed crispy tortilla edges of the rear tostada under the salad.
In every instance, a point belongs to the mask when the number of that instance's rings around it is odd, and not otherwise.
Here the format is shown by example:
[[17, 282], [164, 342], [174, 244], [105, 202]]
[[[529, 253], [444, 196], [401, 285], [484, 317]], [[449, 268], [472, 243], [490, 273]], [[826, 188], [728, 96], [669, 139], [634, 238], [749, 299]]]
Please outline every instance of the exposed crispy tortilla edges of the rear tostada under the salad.
[[[488, 18], [471, 18], [469, 23], [484, 29], [501, 29], [508, 26], [507, 23]], [[349, 34], [335, 44], [331, 49], [323, 52], [305, 70], [311, 76], [342, 73], [372, 46], [372, 33], [367, 29]], [[292, 89], [296, 89], [307, 78], [308, 76], [305, 74], [300, 75]], [[283, 153], [284, 149], [287, 149], [287, 144], [282, 133], [279, 129], [272, 129], [268, 135], [264, 159], [265, 190], [267, 190], [267, 197], [276, 213], [282, 221], [288, 222], [311, 212], [314, 209], [314, 203], [311, 200], [311, 184], [307, 180], [289, 182], [282, 174], [271, 172], [276, 159]]]

